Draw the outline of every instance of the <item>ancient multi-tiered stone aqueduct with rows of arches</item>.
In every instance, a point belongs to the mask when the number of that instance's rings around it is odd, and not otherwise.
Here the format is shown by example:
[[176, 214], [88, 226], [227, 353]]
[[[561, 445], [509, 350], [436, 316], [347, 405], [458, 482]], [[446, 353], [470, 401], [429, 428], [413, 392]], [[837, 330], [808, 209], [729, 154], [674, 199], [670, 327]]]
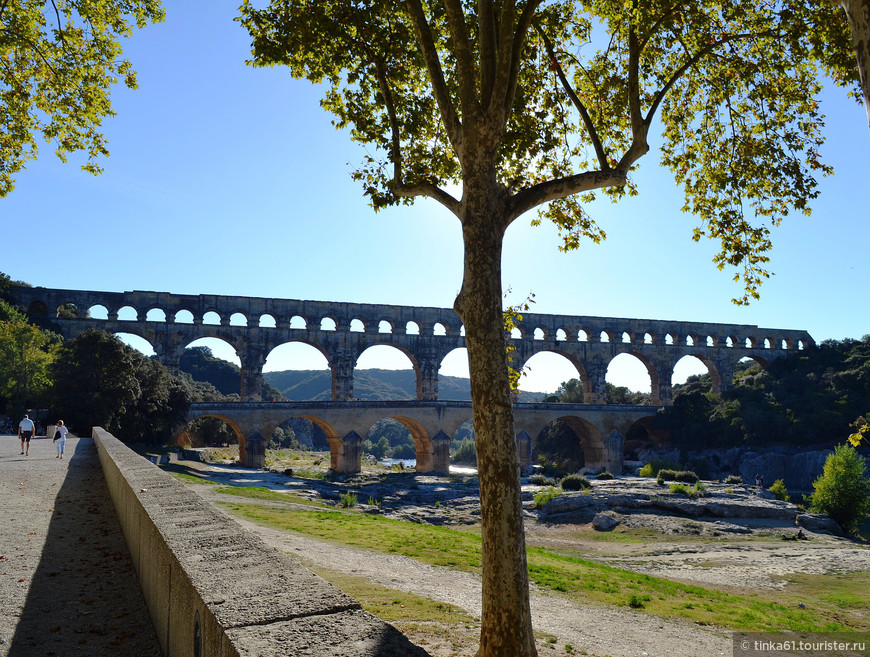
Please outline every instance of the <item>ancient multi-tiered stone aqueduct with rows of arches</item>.
[[[465, 347], [462, 322], [450, 308], [23, 286], [14, 286], [11, 292], [31, 316], [52, 320], [54, 327], [66, 338], [74, 337], [88, 328], [138, 335], [152, 345], [158, 360], [170, 370], [178, 369], [185, 347], [194, 340], [212, 337], [229, 343], [241, 361], [240, 396], [243, 403], [230, 405], [235, 406], [234, 409], [226, 408], [228, 405], [225, 404], [220, 409], [213, 408], [208, 412], [192, 412], [227, 419], [240, 436], [240, 446], [244, 445], [245, 437], [256, 430], [256, 425], [261, 424], [250, 417], [244, 419], [242, 407], [261, 406], [257, 402], [260, 402], [263, 366], [275, 347], [288, 342], [303, 342], [323, 353], [332, 372], [333, 402], [353, 400], [353, 372], [360, 354], [377, 345], [396, 347], [408, 356], [416, 373], [417, 401], [429, 402], [424, 406], [431, 408], [440, 408], [446, 403], [438, 402], [438, 371], [441, 362], [454, 349]], [[97, 306], [106, 309], [106, 319], [89, 316], [90, 309]], [[132, 309], [136, 318], [119, 319], [121, 309]], [[149, 313], [152, 317], [159, 315], [161, 319], [149, 320]], [[189, 313], [193, 318], [192, 322], [176, 321], [180, 313]], [[215, 313], [219, 323], [206, 323], [204, 317], [208, 313]], [[246, 325], [231, 324], [231, 317], [244, 318]], [[264, 319], [268, 325], [261, 326]], [[334, 329], [323, 328], [326, 320], [334, 323]], [[300, 325], [304, 326], [298, 327]], [[384, 327], [389, 327], [390, 332], [385, 332]], [[710, 371], [714, 391], [721, 392], [731, 385], [734, 369], [741, 359], [749, 357], [766, 366], [778, 357], [814, 344], [810, 335], [800, 330], [535, 313], [523, 313], [522, 321], [517, 322], [514, 335], [511, 342], [516, 348], [513, 357], [515, 367], [521, 368], [530, 358], [541, 352], [554, 352], [564, 356], [577, 369], [584, 387], [585, 404], [604, 403], [605, 375], [613, 358], [623, 353], [637, 357], [645, 365], [651, 380], [653, 406], [646, 407], [642, 416], [654, 413], [655, 406], [672, 403], [671, 377], [674, 366], [684, 356], [700, 359]], [[359, 411], [367, 402], [355, 404]], [[206, 405], [195, 405], [195, 408], [202, 406]], [[280, 405], [270, 406], [278, 410]], [[333, 406], [333, 411], [339, 412], [340, 404]], [[526, 406], [529, 405], [517, 405], [517, 435], [521, 460], [523, 445], [530, 445], [529, 436], [537, 435], [530, 431], [535, 430], [534, 426], [539, 426], [536, 422], [524, 424], [523, 417], [532, 417], [537, 412], [534, 409], [525, 409]], [[559, 406], [561, 410], [551, 411], [555, 415], [548, 421], [558, 419], [560, 414], [569, 418], [580, 417], [581, 410], [569, 412], [566, 405]], [[617, 458], [621, 463], [621, 437], [626, 435], [628, 426], [616, 427], [612, 417], [607, 419], [606, 410], [597, 420], [590, 421], [592, 407], [578, 405], [578, 409], [582, 409], [582, 422], [591, 422], [590, 426], [594, 426], [597, 432], [597, 438], [593, 441], [595, 444], [584, 445], [587, 463], [593, 462], [602, 467], [607, 463], [616, 466]], [[301, 412], [304, 409], [297, 410]], [[257, 412], [260, 417], [265, 417], [264, 409], [260, 408]], [[350, 410], [344, 412], [353, 414]], [[395, 417], [409, 428], [417, 446], [418, 470], [438, 470], [447, 463], [440, 436], [446, 439], [452, 433], [445, 434], [442, 431], [439, 436], [440, 429], [435, 430], [434, 425], [426, 424], [413, 414], [407, 415], [388, 409], [381, 409], [379, 412], [385, 414], [377, 419]], [[611, 407], [609, 414], [613, 416], [614, 412]], [[334, 469], [359, 469], [358, 443], [365, 432], [359, 433], [355, 428], [345, 432], [347, 423], [344, 420], [335, 419], [332, 423], [324, 419], [321, 411], [303, 416], [309, 416], [309, 419], [325, 428]], [[464, 419], [468, 418], [470, 404]], [[284, 419], [288, 417], [281, 421]], [[275, 426], [278, 424], [280, 422], [275, 423]], [[612, 426], [613, 430], [608, 430], [608, 426]], [[271, 430], [265, 435], [270, 433]], [[530, 450], [527, 451], [530, 453]]]

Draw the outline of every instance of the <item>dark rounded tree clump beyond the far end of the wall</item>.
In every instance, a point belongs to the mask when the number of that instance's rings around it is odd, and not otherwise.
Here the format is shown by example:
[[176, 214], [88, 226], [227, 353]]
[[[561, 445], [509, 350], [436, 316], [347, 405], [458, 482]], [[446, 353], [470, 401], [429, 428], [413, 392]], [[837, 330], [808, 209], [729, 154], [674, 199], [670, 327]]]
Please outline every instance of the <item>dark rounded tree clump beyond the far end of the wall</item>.
[[79, 433], [102, 426], [125, 442], [162, 443], [190, 405], [183, 381], [105, 331], [64, 342], [52, 373], [54, 410]]

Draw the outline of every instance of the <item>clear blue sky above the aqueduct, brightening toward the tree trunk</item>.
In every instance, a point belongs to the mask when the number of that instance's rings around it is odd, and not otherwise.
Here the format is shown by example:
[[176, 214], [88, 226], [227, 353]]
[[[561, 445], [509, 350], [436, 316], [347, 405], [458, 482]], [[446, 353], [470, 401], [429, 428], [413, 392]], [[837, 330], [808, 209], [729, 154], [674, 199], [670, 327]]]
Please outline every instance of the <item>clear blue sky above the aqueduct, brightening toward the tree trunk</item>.
[[[0, 271], [47, 287], [452, 306], [457, 220], [427, 202], [375, 214], [350, 179], [361, 151], [332, 127], [320, 90], [286, 69], [245, 65], [237, 6], [171, 2], [165, 23], [127, 42], [140, 88], [113, 94], [105, 173], [44, 147], [0, 200]], [[691, 241], [695, 221], [655, 152], [636, 176], [638, 197], [592, 209], [602, 244], [566, 255], [532, 215], [510, 228], [509, 301], [534, 292], [535, 312], [757, 324], [816, 340], [870, 333], [870, 133], [841, 90], [823, 108], [823, 157], [836, 173], [812, 217], [775, 230], [776, 276], [760, 301], [731, 303], [740, 289], [712, 264], [715, 244]], [[526, 387], [552, 390], [572, 375], [564, 365], [533, 363]], [[309, 364], [270, 359], [267, 369], [285, 366]]]

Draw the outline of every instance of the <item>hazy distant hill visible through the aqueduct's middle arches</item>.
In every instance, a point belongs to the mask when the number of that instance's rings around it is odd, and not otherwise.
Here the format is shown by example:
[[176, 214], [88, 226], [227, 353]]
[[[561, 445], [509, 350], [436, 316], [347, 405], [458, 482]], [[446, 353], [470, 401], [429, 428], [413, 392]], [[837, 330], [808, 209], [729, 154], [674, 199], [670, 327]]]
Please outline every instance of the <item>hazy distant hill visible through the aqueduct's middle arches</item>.
[[[290, 401], [329, 401], [332, 399], [332, 375], [328, 370], [284, 370], [263, 374], [269, 385]], [[366, 401], [416, 399], [417, 381], [412, 370], [357, 370], [353, 377], [353, 394]], [[541, 392], [523, 392], [520, 401], [534, 402], [545, 397]], [[467, 401], [471, 399], [469, 380], [456, 376], [438, 379], [438, 398]]]

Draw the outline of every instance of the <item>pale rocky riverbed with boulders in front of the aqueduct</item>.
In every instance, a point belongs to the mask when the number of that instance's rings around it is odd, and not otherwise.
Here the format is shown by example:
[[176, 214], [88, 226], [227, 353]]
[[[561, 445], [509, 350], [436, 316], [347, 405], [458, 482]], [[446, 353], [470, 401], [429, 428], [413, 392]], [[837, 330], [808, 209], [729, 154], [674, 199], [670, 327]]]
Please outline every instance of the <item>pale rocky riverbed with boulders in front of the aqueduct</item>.
[[[225, 464], [185, 465], [208, 480], [292, 491], [327, 504], [338, 505], [350, 493], [359, 510], [398, 520], [480, 522], [477, 479], [471, 475], [381, 471], [329, 481]], [[870, 570], [868, 545], [844, 537], [827, 517], [753, 486], [704, 484], [703, 496], [688, 497], [646, 477], [593, 479], [589, 490], [562, 492], [537, 508], [535, 495], [549, 486], [526, 478], [527, 541], [638, 572], [717, 586], [778, 588], [794, 573]], [[632, 532], [647, 540], [603, 536]]]

